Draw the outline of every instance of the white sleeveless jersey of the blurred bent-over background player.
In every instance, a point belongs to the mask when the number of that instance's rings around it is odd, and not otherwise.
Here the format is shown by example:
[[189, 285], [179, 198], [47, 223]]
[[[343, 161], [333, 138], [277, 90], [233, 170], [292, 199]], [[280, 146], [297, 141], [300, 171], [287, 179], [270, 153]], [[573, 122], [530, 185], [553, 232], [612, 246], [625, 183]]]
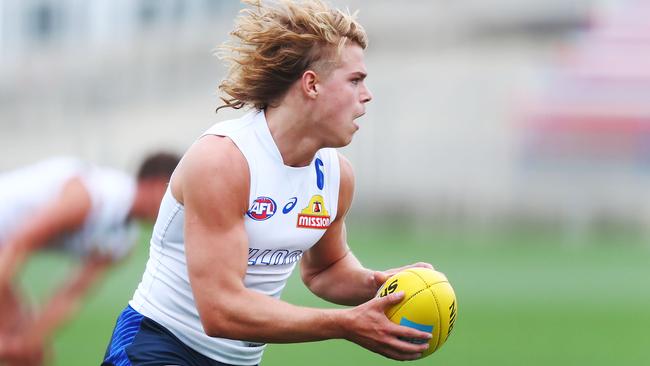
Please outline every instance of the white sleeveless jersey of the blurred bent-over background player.
[[138, 233], [137, 226], [127, 221], [135, 197], [134, 179], [65, 157], [0, 175], [0, 246], [74, 177], [81, 179], [90, 194], [90, 213], [79, 230], [47, 243], [46, 249], [79, 257], [98, 253], [115, 260], [126, 255]]

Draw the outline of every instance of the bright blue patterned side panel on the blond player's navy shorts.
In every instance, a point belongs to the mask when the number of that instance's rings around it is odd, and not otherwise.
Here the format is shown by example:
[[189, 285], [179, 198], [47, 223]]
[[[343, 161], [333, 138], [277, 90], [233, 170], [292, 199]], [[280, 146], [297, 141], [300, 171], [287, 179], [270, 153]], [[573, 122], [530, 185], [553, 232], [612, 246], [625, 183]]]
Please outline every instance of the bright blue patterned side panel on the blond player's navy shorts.
[[133, 343], [135, 335], [140, 329], [144, 316], [129, 305], [117, 318], [115, 330], [104, 355], [104, 363], [114, 366], [131, 366], [131, 361], [126, 355], [126, 347]]

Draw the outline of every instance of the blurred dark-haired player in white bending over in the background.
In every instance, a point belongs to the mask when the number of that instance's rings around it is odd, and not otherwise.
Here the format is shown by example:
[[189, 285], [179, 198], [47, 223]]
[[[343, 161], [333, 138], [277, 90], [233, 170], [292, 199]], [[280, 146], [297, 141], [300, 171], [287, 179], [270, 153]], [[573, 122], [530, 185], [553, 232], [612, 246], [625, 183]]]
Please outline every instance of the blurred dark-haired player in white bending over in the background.
[[[155, 221], [177, 164], [177, 156], [157, 153], [133, 178], [74, 158], [52, 158], [0, 174], [0, 364], [42, 364], [54, 330], [132, 249], [135, 220]], [[46, 249], [72, 254], [82, 265], [33, 312], [13, 282], [29, 256]]]

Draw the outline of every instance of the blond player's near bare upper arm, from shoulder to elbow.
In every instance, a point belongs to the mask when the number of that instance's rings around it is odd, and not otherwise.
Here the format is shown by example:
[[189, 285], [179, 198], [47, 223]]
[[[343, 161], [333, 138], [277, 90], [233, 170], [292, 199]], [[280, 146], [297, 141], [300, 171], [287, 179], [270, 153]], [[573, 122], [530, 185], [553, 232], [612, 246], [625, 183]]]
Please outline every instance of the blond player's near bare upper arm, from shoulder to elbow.
[[243, 289], [248, 167], [232, 142], [206, 137], [188, 151], [176, 178], [185, 206], [188, 274], [203, 321], [224, 306], [224, 295]]

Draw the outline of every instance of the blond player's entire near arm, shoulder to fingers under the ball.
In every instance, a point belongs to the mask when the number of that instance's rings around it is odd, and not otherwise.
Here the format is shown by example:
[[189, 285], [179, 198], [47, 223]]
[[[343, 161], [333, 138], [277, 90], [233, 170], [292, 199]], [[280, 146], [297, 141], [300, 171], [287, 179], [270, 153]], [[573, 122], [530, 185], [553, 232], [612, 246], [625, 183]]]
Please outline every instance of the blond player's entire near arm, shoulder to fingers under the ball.
[[393, 324], [383, 313], [400, 295], [354, 309], [314, 309], [244, 286], [248, 186], [244, 157], [229, 139], [216, 136], [203, 137], [192, 146], [172, 179], [172, 192], [185, 206], [188, 274], [205, 332], [265, 343], [346, 338], [388, 357], [418, 357], [426, 346], [398, 337], [428, 335]]

